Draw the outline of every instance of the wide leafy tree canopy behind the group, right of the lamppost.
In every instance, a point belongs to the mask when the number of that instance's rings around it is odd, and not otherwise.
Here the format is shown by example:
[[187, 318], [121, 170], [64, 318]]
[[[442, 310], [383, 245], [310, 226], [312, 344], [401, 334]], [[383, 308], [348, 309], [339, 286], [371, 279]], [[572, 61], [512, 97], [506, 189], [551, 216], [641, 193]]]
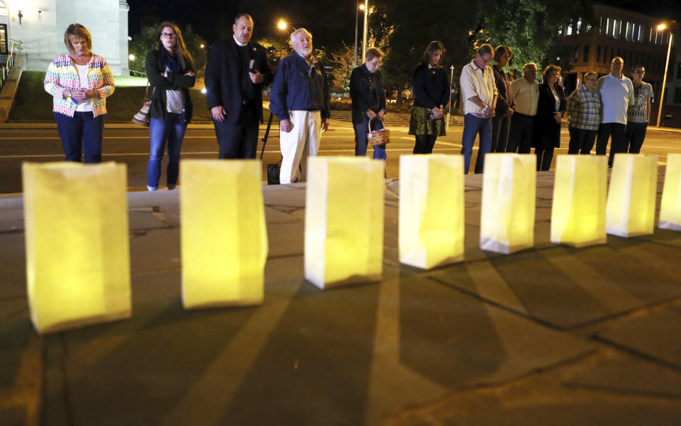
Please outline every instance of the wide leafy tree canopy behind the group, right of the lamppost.
[[427, 11], [413, 0], [377, 0], [370, 28], [375, 43], [386, 52], [386, 83], [402, 94], [431, 40], [445, 46], [441, 63], [454, 68], [455, 82], [483, 43], [511, 47], [515, 56], [511, 69], [536, 62], [540, 67], [556, 63], [567, 71], [570, 57], [558, 30], [577, 18], [592, 21], [591, 16], [585, 0], [431, 0]]

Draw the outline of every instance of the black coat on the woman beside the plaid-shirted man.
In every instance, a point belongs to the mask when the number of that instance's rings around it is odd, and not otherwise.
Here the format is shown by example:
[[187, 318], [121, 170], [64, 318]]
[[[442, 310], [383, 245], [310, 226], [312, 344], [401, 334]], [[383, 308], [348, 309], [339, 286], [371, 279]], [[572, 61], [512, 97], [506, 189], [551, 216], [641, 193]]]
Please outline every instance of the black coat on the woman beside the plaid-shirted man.
[[[561, 115], [565, 112], [565, 94], [563, 88], [554, 85], [555, 91], [560, 98]], [[560, 123], [555, 122], [553, 113], [555, 109], [555, 97], [548, 83], [539, 85], [539, 100], [537, 101], [537, 115], [534, 116], [534, 131], [532, 137], [532, 147], [560, 147]]]

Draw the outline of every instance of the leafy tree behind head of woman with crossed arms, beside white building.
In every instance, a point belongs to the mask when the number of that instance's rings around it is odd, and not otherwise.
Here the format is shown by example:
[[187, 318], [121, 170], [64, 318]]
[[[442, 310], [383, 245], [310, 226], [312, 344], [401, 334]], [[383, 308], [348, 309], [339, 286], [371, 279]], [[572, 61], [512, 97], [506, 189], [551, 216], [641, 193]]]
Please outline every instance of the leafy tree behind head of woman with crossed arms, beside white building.
[[[134, 55], [134, 60], [128, 60], [128, 66], [131, 70], [137, 72], [146, 72], [144, 62], [147, 57], [147, 52], [156, 49], [157, 45], [157, 29], [160, 23], [155, 26], [147, 28], [142, 33], [135, 35], [133, 41], [128, 45], [128, 52]], [[203, 77], [206, 69], [206, 42], [192, 31], [192, 26], [187, 26], [182, 31], [184, 44], [187, 45], [187, 50], [192, 54], [194, 59], [194, 68], [196, 68], [197, 77]]]

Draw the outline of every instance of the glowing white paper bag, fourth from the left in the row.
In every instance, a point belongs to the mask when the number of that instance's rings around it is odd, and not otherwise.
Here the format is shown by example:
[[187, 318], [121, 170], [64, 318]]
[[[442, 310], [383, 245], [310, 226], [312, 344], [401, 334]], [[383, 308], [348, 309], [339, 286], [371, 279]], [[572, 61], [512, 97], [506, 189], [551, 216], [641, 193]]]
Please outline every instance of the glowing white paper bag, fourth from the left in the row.
[[399, 262], [431, 269], [463, 260], [463, 155], [399, 157]]

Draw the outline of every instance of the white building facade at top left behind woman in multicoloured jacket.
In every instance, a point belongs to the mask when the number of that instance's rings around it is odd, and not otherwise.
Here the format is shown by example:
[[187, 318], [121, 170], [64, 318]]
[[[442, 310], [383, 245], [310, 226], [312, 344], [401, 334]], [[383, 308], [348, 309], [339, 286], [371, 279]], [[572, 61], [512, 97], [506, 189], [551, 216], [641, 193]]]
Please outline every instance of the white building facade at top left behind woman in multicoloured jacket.
[[90, 31], [92, 52], [106, 59], [114, 75], [129, 74], [126, 0], [0, 0], [0, 55], [14, 43], [26, 56], [26, 69], [45, 71], [66, 51], [64, 31], [71, 23]]

